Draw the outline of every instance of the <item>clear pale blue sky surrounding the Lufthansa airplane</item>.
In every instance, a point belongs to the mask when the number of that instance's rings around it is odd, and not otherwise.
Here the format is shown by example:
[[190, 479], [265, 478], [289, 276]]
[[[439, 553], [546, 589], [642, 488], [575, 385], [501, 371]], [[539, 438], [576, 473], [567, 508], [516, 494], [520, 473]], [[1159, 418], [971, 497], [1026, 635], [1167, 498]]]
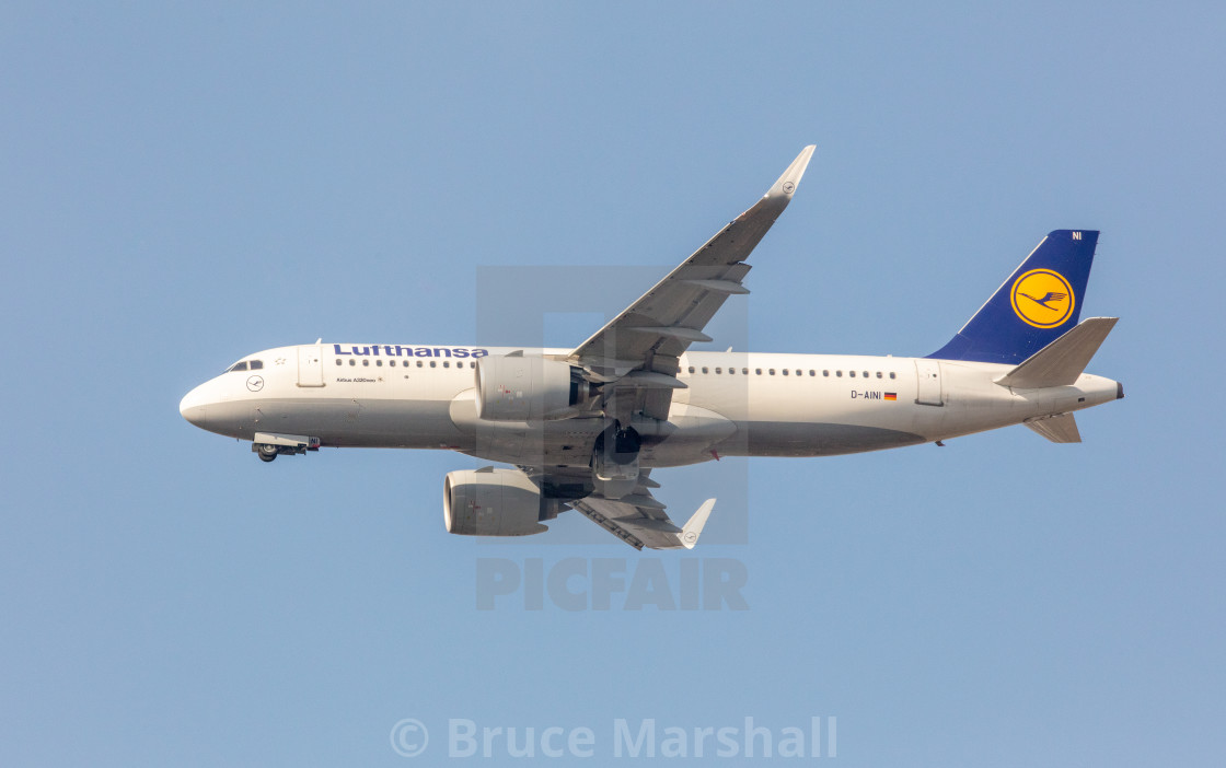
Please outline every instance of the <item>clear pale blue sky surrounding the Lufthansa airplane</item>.
[[[455, 718], [603, 764], [617, 718], [834, 717], [835, 764], [1221, 764], [1226, 13], [1177, 5], [5, 4], [0, 763], [411, 764], [392, 726], [434, 762]], [[663, 557], [574, 513], [450, 536], [472, 459], [265, 465], [178, 414], [316, 337], [577, 343], [807, 143], [711, 347], [927, 354], [1101, 229], [1128, 398], [1080, 446], [660, 473], [721, 497]], [[478, 305], [525, 266], [628, 277]], [[568, 557], [737, 563], [748, 610], [477, 610], [482, 562]]]

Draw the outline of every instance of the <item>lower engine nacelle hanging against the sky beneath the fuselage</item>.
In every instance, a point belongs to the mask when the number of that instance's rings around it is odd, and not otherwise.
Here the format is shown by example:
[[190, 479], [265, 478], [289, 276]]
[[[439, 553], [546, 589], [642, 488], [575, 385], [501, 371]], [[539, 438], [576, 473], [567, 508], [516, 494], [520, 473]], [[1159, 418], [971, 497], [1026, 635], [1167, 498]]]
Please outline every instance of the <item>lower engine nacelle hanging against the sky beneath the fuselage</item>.
[[526, 536], [549, 530], [541, 521], [558, 517], [559, 502], [517, 469], [447, 473], [443, 481], [443, 522], [466, 536]]

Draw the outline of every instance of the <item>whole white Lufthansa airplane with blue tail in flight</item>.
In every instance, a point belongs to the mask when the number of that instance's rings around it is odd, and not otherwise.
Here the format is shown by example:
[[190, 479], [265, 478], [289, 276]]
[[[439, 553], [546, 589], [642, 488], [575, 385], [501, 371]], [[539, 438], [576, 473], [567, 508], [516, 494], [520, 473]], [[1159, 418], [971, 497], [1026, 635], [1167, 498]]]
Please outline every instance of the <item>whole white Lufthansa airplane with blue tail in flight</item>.
[[[1116, 317], [1079, 321], [1094, 230], [1049, 233], [939, 350], [922, 358], [690, 352], [809, 164], [574, 349], [324, 343], [245, 355], [191, 390], [191, 424], [260, 459], [321, 447], [434, 448], [512, 467], [449, 473], [449, 533], [519, 536], [577, 511], [635, 549], [691, 549], [715, 500], [678, 525], [652, 472], [725, 456], [817, 457], [1024, 424], [1080, 442], [1074, 412], [1124, 396], [1085, 367]], [[1036, 299], [1037, 296], [1037, 299]]]

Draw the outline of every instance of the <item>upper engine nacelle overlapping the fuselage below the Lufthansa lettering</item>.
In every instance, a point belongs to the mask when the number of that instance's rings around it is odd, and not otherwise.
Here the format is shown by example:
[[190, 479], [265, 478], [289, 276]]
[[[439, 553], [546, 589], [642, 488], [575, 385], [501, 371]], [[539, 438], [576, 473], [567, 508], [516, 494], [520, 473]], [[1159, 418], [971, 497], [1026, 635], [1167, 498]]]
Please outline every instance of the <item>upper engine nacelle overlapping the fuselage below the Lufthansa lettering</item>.
[[582, 369], [562, 360], [503, 355], [477, 361], [477, 416], [488, 421], [569, 419], [592, 393]]

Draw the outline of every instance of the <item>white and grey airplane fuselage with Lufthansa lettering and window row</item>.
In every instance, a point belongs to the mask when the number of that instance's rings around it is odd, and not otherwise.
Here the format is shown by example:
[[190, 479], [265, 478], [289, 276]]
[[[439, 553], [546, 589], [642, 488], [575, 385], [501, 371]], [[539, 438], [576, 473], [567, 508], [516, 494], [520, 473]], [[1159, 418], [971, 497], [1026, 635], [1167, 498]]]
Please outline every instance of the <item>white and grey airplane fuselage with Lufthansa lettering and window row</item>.
[[[306, 344], [244, 358], [183, 398], [192, 424], [251, 440], [309, 435], [333, 447], [445, 448], [515, 464], [586, 465], [607, 420], [477, 418], [474, 374], [519, 348]], [[566, 349], [524, 350], [564, 358]], [[243, 365], [239, 363], [237, 365]], [[1083, 374], [1074, 385], [1010, 390], [1011, 366], [864, 355], [690, 352], [667, 421], [639, 416], [644, 467], [717, 456], [834, 456], [946, 440], [1118, 397]], [[893, 397], [891, 397], [893, 396]]]

